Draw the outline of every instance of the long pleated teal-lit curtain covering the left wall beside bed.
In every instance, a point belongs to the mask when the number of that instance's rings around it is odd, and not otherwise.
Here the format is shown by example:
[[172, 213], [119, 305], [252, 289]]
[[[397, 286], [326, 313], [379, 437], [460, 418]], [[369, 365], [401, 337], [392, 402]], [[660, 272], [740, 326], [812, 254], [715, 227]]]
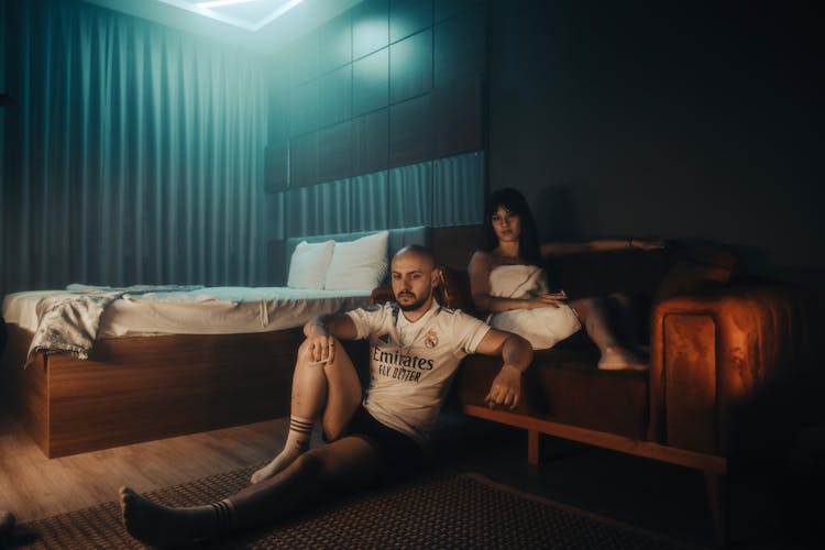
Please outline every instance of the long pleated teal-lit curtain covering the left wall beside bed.
[[262, 284], [264, 58], [77, 1], [3, 15], [0, 292]]

